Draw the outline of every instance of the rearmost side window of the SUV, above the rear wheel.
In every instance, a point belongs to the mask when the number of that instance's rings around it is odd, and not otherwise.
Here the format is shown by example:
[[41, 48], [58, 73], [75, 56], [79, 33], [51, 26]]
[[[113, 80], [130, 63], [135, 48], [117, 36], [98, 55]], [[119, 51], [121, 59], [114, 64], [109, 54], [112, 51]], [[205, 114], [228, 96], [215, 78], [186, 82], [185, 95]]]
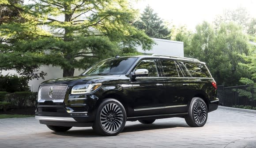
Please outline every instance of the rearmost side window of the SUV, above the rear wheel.
[[192, 75], [192, 77], [197, 78], [211, 78], [211, 74], [207, 70], [204, 64], [200, 63], [185, 63], [185, 66], [187, 67], [188, 71]]

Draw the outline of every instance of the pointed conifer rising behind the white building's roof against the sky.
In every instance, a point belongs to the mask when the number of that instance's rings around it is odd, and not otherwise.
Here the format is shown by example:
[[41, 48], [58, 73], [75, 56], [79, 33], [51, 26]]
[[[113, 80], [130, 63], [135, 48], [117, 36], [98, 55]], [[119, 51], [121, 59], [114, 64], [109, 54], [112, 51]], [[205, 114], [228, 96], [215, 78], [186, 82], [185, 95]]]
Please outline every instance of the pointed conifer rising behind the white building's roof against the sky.
[[154, 10], [147, 6], [138, 21], [133, 24], [139, 30], [143, 30], [149, 37], [170, 39], [171, 31], [163, 25], [163, 21]]

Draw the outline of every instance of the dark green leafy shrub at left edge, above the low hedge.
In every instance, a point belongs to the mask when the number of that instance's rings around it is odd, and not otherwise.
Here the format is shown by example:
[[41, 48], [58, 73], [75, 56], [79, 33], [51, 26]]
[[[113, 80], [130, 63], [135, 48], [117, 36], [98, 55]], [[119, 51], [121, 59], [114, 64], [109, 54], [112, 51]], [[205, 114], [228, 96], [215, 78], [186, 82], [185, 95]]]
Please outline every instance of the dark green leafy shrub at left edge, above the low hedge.
[[28, 81], [26, 77], [18, 77], [16, 75], [0, 75], [0, 91], [8, 93], [28, 91]]

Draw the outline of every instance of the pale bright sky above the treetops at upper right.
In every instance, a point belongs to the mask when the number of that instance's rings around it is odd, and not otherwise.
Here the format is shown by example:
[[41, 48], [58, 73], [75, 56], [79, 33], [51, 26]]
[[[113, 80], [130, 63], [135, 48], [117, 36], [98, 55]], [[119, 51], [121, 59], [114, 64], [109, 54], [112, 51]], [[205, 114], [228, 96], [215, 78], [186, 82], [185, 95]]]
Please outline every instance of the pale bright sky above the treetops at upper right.
[[225, 9], [246, 7], [251, 17], [256, 18], [256, 0], [132, 0], [132, 3], [140, 13], [149, 5], [164, 21], [175, 26], [186, 25], [190, 30], [203, 21], [213, 22]]

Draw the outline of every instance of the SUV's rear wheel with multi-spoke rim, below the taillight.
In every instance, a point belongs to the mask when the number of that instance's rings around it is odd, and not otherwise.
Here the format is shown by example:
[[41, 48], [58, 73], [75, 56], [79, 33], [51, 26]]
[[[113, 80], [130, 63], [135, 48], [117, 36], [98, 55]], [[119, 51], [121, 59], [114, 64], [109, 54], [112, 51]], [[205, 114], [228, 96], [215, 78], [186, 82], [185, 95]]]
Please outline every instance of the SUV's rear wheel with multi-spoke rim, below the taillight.
[[203, 99], [199, 97], [192, 98], [188, 108], [188, 115], [185, 117], [188, 126], [202, 127], [205, 125], [207, 117], [208, 109]]

